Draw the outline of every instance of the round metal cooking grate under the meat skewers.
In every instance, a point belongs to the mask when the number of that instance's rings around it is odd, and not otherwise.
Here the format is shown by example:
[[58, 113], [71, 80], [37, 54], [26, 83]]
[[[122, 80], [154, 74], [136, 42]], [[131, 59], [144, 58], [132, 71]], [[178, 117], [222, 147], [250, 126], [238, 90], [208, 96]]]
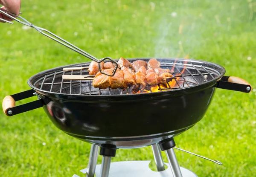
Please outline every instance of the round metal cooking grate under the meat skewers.
[[[159, 60], [161, 61], [161, 60]], [[84, 63], [76, 67], [87, 67], [90, 63]], [[163, 88], [158, 86], [157, 91], [183, 89], [199, 84], [204, 84], [217, 78], [221, 73], [211, 67], [203, 66], [202, 64], [184, 62], [161, 62], [161, 68], [169, 68], [174, 71], [172, 84], [167, 83], [168, 87]], [[183, 71], [183, 72], [182, 72]], [[92, 86], [92, 81], [88, 80], [63, 80], [62, 75], [89, 75], [87, 69], [76, 71], [54, 71], [39, 78], [34, 86], [41, 90], [52, 93], [65, 93], [71, 95], [122, 95], [133, 94], [131, 88], [122, 89], [99, 89]], [[175, 84], [174, 84], [175, 83]], [[172, 85], [172, 86], [171, 86]], [[152, 92], [148, 90], [140, 90], [139, 93]]]

